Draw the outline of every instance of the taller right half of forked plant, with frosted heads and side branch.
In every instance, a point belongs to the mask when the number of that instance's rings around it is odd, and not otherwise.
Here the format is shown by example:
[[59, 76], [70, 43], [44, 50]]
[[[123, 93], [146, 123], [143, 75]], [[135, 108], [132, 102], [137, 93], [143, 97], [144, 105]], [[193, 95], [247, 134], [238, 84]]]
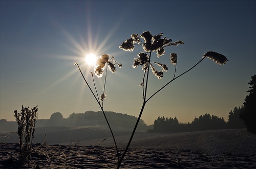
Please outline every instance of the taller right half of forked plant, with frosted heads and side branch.
[[[153, 96], [155, 94], [157, 94], [159, 91], [161, 91], [163, 88], [165, 88], [168, 84], [170, 84], [171, 82], [173, 82], [177, 78], [181, 77], [182, 75], [184, 75], [185, 73], [187, 73], [188, 71], [193, 69], [204, 58], [209, 58], [209, 59], [215, 61], [216, 63], [220, 64], [220, 65], [222, 65], [222, 64], [224, 65], [228, 61], [228, 59], [225, 56], [223, 56], [222, 54], [219, 54], [217, 52], [209, 51], [209, 52], [206, 52], [203, 55], [203, 58], [198, 63], [196, 63], [193, 67], [191, 67], [190, 69], [188, 69], [187, 71], [185, 71], [184, 73], [182, 73], [181, 75], [176, 77], [177, 54], [171, 53], [169, 58], [170, 58], [170, 63], [173, 63], [173, 65], [175, 65], [174, 78], [172, 80], [170, 80], [168, 83], [166, 83], [159, 90], [157, 90], [154, 94], [147, 97], [149, 69], [152, 70], [152, 73], [158, 79], [163, 78], [163, 71], [168, 70], [168, 65], [167, 64], [158, 63], [158, 62], [155, 62], [155, 61], [152, 60], [152, 53], [156, 52], [157, 57], [160, 57], [160, 56], [164, 55], [164, 53], [165, 53], [164, 48], [165, 47], [167, 47], [167, 46], [178, 46], [180, 44], [184, 44], [184, 42], [181, 41], [181, 40], [173, 42], [172, 39], [168, 39], [166, 37], [162, 38], [162, 36], [163, 36], [163, 33], [160, 33], [158, 35], [153, 36], [150, 31], [143, 32], [140, 36], [138, 34], [132, 34], [131, 38], [126, 39], [119, 46], [120, 49], [122, 49], [124, 51], [129, 51], [129, 52], [132, 52], [135, 49], [135, 44], [137, 44], [139, 46], [142, 46], [144, 52], [139, 53], [138, 58], [134, 59], [135, 61], [134, 61], [133, 67], [136, 68], [138, 66], [142, 66], [142, 70], [144, 71], [144, 75], [143, 75], [143, 78], [142, 78], [142, 83], [140, 84], [140, 86], [142, 86], [143, 104], [142, 104], [142, 107], [141, 107], [141, 110], [140, 110], [140, 113], [139, 113], [139, 116], [138, 116], [137, 123], [135, 124], [133, 133], [130, 137], [129, 142], [127, 143], [127, 146], [124, 150], [124, 153], [122, 154], [122, 157], [121, 157], [121, 159], [118, 163], [117, 168], [119, 168], [121, 166], [122, 160], [123, 160], [127, 150], [130, 147], [131, 141], [133, 139], [134, 133], [136, 131], [136, 128], [138, 126], [139, 120], [141, 118], [141, 115], [143, 113], [143, 110], [145, 108], [146, 103], [151, 98], [153, 98]], [[153, 63], [156, 64], [157, 66], [160, 66], [161, 70], [160, 71], [157, 70], [154, 67]]]

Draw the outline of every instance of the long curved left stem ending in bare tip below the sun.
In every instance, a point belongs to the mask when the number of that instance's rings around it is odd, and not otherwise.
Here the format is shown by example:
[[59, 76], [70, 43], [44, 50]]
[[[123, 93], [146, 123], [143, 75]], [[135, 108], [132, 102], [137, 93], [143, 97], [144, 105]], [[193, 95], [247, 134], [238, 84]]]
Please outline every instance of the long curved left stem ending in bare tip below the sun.
[[[98, 105], [100, 106], [100, 109], [102, 110], [102, 113], [103, 113], [103, 115], [104, 115], [104, 117], [105, 117], [106, 123], [107, 123], [108, 126], [109, 126], [111, 135], [112, 135], [113, 140], [114, 140], [114, 143], [115, 143], [116, 154], [117, 154], [117, 160], [118, 160], [118, 164], [119, 164], [119, 153], [118, 153], [118, 148], [117, 148], [117, 144], [116, 144], [116, 139], [115, 139], [115, 136], [114, 136], [113, 131], [112, 131], [112, 129], [111, 129], [111, 126], [110, 126], [110, 124], [109, 124], [109, 120], [108, 120], [108, 118], [106, 118], [106, 115], [105, 115], [105, 112], [104, 112], [104, 110], [103, 110], [103, 107], [101, 106], [100, 102], [97, 100], [96, 95], [94, 94], [93, 90], [91, 89], [90, 85], [88, 84], [86, 78], [84, 78], [84, 76], [83, 76], [83, 74], [82, 74], [82, 71], [81, 71], [81, 69], [80, 69], [78, 63], [76, 63], [76, 65], [77, 65], [77, 67], [78, 67], [78, 69], [79, 69], [79, 71], [80, 71], [80, 73], [81, 73], [81, 75], [82, 75], [82, 77], [83, 77], [83, 80], [86, 82], [86, 84], [87, 84], [87, 86], [89, 87], [90, 91], [92, 92], [92, 94], [93, 94], [95, 100], [97, 101]], [[102, 104], [102, 105], [103, 105], [103, 104]]]

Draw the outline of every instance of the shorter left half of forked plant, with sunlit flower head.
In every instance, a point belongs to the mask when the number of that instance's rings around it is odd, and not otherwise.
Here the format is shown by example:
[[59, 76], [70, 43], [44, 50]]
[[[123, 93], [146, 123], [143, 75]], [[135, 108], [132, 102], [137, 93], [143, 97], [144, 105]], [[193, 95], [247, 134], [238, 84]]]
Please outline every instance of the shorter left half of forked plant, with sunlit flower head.
[[92, 92], [95, 100], [97, 101], [98, 105], [100, 106], [100, 109], [104, 115], [104, 118], [106, 120], [106, 123], [108, 124], [108, 127], [111, 131], [111, 134], [112, 134], [112, 137], [113, 137], [113, 140], [114, 140], [114, 143], [115, 143], [115, 148], [116, 148], [116, 154], [117, 154], [117, 159], [118, 159], [118, 163], [119, 163], [119, 153], [118, 153], [118, 148], [117, 148], [117, 144], [116, 144], [116, 140], [115, 140], [115, 136], [114, 136], [114, 133], [111, 129], [111, 126], [109, 124], [109, 120], [108, 118], [106, 117], [105, 115], [105, 112], [104, 112], [104, 109], [103, 109], [103, 103], [104, 103], [104, 99], [106, 98], [106, 94], [105, 94], [105, 86], [106, 86], [106, 77], [107, 77], [107, 72], [108, 72], [108, 68], [106, 67], [109, 67], [110, 71], [112, 73], [115, 73], [116, 71], [116, 65], [121, 68], [122, 67], [122, 64], [120, 63], [117, 63], [115, 58], [112, 56], [110, 57], [109, 55], [107, 54], [104, 54], [104, 55], [101, 55], [99, 58], [97, 58], [97, 61], [96, 61], [96, 64], [95, 64], [95, 67], [94, 67], [94, 74], [98, 77], [98, 78], [101, 78], [103, 76], [103, 70], [106, 68], [106, 72], [105, 72], [105, 79], [104, 79], [104, 87], [103, 87], [103, 93], [98, 94], [98, 91], [97, 91], [97, 88], [96, 88], [96, 85], [95, 85], [95, 81], [94, 81], [94, 77], [93, 77], [93, 73], [91, 72], [91, 75], [92, 75], [92, 80], [93, 80], [93, 84], [94, 84], [94, 88], [95, 88], [95, 92], [92, 90], [92, 88], [90, 87], [89, 83], [87, 82], [86, 78], [83, 76], [82, 74], [82, 71], [78, 65], [78, 63], [75, 63], [75, 65], [78, 67], [82, 77], [83, 77], [83, 80], [84, 82], [86, 82], [87, 86], [89, 87], [90, 91]]

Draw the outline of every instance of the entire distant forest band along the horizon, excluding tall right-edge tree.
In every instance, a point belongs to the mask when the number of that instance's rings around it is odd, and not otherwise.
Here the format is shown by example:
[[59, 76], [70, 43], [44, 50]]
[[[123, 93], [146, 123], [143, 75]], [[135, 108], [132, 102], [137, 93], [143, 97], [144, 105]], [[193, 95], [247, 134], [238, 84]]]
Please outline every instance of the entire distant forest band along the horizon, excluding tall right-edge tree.
[[[140, 119], [138, 129], [147, 132], [189, 132], [202, 130], [217, 130], [217, 129], [240, 129], [246, 128], [244, 121], [239, 117], [243, 106], [235, 107], [230, 110], [228, 121], [217, 115], [205, 113], [199, 117], [195, 117], [191, 123], [181, 123], [177, 117], [158, 117], [153, 125], [146, 125], [143, 119]], [[123, 128], [133, 128], [133, 125], [138, 119], [136, 116], [122, 114], [112, 111], [106, 111], [106, 116], [113, 126]], [[12, 124], [13, 123], [13, 124]], [[16, 122], [7, 122], [6, 119], [1, 119], [3, 129], [10, 128], [10, 125], [16, 126]], [[4, 125], [6, 124], [6, 125]], [[63, 118], [60, 112], [55, 112], [50, 119], [38, 119], [36, 127], [53, 127], [53, 126], [106, 126], [104, 117], [101, 111], [86, 111], [84, 113], [72, 113], [68, 118]], [[15, 127], [14, 127], [15, 128]]]

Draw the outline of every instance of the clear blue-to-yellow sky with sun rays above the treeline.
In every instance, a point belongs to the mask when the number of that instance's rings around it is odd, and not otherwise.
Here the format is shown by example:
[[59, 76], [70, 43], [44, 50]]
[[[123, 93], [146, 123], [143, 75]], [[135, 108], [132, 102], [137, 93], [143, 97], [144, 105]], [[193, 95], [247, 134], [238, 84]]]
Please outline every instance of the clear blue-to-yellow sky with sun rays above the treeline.
[[[184, 45], [167, 47], [154, 60], [169, 64], [178, 54], [177, 75], [197, 63], [207, 51], [225, 55], [218, 65], [204, 59], [149, 101], [142, 115], [147, 125], [158, 116], [191, 122], [205, 113], [228, 118], [242, 106], [255, 73], [255, 1], [1, 1], [1, 117], [15, 120], [14, 110], [38, 105], [38, 118], [54, 112], [69, 114], [99, 106], [75, 62], [89, 82], [93, 67], [84, 55], [109, 54], [122, 68], [108, 74], [105, 111], [138, 116], [142, 104], [141, 67], [133, 68], [142, 52], [118, 46], [133, 33], [163, 32]], [[150, 76], [149, 92], [173, 78], [174, 66], [163, 79]], [[96, 77], [95, 77], [96, 78]], [[96, 80], [102, 92], [103, 78]]]

